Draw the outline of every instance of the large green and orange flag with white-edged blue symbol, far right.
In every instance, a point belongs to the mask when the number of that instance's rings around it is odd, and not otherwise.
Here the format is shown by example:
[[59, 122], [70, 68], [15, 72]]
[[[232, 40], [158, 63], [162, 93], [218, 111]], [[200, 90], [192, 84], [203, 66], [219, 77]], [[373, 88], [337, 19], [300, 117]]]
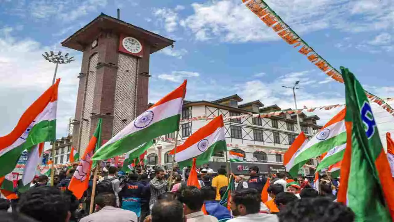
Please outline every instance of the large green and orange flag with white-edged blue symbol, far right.
[[353, 73], [343, 67], [341, 71], [346, 90], [348, 146], [342, 160], [338, 202], [353, 210], [356, 222], [392, 221], [394, 181], [371, 105]]

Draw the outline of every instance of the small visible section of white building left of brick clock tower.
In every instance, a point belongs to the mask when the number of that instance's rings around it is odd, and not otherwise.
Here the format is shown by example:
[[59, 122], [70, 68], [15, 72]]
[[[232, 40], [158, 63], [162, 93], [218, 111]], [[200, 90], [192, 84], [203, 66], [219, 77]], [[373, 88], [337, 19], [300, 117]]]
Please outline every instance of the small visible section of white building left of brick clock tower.
[[[54, 164], [67, 164], [70, 162], [72, 135], [61, 137], [55, 141], [55, 162]], [[50, 143], [52, 146], [52, 142]], [[49, 160], [52, 160], [52, 152], [49, 153]]]

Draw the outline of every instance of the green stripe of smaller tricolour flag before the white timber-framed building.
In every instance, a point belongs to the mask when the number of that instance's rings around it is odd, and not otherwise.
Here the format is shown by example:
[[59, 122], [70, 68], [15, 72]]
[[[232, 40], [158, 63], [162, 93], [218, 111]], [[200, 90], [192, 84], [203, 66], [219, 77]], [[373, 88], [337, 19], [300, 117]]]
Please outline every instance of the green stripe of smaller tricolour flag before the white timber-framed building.
[[[221, 151], [227, 151], [227, 144], [225, 140], [217, 141], [216, 143], [208, 147], [208, 149], [205, 152], [201, 153], [198, 156], [193, 157], [196, 158], [196, 166], [208, 163], [211, 156]], [[191, 166], [193, 164], [193, 158], [178, 162], [180, 169], [182, 169], [185, 166]]]

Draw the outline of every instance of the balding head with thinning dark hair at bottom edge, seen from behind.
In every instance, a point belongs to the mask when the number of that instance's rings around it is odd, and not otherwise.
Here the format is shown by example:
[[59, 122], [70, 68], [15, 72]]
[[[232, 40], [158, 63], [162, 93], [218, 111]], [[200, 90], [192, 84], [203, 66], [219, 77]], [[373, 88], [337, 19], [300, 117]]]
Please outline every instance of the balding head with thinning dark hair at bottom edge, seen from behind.
[[152, 222], [183, 222], [183, 206], [177, 200], [159, 200], [152, 207]]

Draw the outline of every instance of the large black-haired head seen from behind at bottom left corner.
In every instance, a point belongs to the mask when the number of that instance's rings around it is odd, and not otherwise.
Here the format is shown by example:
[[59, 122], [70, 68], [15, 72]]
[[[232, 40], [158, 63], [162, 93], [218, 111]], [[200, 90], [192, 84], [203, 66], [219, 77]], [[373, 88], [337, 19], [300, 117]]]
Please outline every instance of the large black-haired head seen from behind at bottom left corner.
[[64, 222], [70, 207], [70, 199], [51, 186], [40, 186], [26, 191], [19, 199], [20, 213], [41, 222]]

